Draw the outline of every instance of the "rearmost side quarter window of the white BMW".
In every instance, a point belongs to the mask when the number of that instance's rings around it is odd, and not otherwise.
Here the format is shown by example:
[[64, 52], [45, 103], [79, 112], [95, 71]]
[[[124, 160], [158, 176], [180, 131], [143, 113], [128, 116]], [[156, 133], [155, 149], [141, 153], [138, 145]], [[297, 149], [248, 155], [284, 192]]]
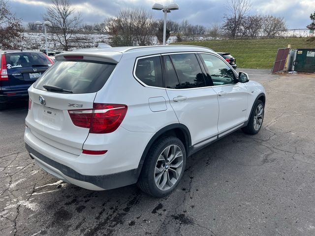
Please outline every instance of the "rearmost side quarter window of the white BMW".
[[163, 87], [160, 57], [138, 59], [135, 76], [148, 86]]

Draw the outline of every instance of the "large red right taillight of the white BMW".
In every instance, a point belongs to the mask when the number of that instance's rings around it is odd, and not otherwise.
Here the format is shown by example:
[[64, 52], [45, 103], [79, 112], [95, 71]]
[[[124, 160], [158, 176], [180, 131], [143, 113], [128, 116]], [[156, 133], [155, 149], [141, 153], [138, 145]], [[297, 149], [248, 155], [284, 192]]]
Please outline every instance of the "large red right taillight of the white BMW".
[[106, 134], [115, 131], [126, 116], [123, 104], [94, 103], [91, 110], [69, 110], [74, 125], [90, 128], [90, 133]]

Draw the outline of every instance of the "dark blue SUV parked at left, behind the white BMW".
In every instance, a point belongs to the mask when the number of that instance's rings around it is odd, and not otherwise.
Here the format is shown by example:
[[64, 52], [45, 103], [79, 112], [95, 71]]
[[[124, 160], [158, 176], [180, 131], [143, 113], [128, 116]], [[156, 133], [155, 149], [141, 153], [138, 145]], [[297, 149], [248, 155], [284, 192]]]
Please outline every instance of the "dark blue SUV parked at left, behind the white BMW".
[[0, 52], [0, 110], [9, 101], [28, 99], [29, 87], [53, 63], [41, 52]]

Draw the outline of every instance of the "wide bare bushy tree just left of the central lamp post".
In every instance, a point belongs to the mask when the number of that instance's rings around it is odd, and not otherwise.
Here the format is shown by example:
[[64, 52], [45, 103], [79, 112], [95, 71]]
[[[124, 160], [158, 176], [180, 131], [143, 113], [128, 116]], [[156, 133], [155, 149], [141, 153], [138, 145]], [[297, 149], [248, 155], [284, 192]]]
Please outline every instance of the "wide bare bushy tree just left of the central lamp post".
[[152, 13], [145, 9], [125, 9], [108, 19], [105, 29], [112, 46], [145, 46], [152, 43], [153, 23]]

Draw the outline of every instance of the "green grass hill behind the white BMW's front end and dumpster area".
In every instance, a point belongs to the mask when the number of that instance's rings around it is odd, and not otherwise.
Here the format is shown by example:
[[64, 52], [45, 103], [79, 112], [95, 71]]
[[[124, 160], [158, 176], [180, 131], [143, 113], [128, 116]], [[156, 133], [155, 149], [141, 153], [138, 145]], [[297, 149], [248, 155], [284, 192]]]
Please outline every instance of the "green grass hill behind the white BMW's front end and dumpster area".
[[216, 52], [230, 53], [242, 68], [272, 68], [278, 48], [315, 48], [315, 40], [310, 38], [244, 39], [189, 41], [174, 44], [198, 45]]

